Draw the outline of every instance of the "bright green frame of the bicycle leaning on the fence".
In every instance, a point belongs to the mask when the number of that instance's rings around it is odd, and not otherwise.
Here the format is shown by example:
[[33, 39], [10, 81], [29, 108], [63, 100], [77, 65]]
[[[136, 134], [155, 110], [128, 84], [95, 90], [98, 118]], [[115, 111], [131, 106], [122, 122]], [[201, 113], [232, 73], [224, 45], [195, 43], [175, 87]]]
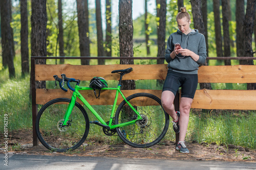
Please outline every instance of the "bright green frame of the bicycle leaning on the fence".
[[[79, 85], [75, 86], [75, 91], [73, 92], [72, 98], [71, 98], [71, 103], [68, 106], [68, 109], [66, 111], [66, 114], [64, 116], [64, 122], [63, 125], [67, 126], [67, 122], [69, 121], [69, 116], [75, 106], [75, 102], [76, 102], [76, 98], [78, 97], [82, 103], [84, 105], [86, 105], [86, 107], [97, 117], [97, 119], [99, 120], [99, 122], [104, 125], [104, 126], [109, 126], [110, 129], [115, 129], [118, 127], [123, 127], [123, 126], [127, 126], [127, 125], [131, 125], [131, 124], [135, 124], [138, 120], [141, 120], [142, 117], [140, 116], [139, 112], [126, 100], [124, 94], [122, 93], [122, 91], [120, 90], [121, 86], [118, 85], [117, 88], [112, 88], [112, 87], [106, 87], [106, 88], [102, 88], [102, 90], [116, 90], [116, 96], [115, 96], [115, 100], [114, 100], [114, 104], [113, 104], [113, 108], [112, 108], [112, 112], [111, 112], [111, 116], [110, 116], [110, 121], [109, 121], [109, 125], [107, 125], [104, 120], [100, 117], [100, 115], [94, 110], [94, 108], [86, 101], [86, 99], [83, 98], [83, 96], [80, 94], [79, 90], [92, 90], [92, 88], [90, 87], [80, 87]], [[116, 109], [116, 105], [117, 105], [117, 99], [118, 99], [118, 95], [121, 94], [122, 98], [124, 99], [124, 101], [133, 109], [133, 111], [138, 115], [138, 118], [135, 120], [132, 120], [130, 122], [125, 122], [122, 124], [118, 124], [118, 125], [112, 125], [113, 123], [113, 119], [114, 119], [114, 115], [115, 115], [115, 109]]]

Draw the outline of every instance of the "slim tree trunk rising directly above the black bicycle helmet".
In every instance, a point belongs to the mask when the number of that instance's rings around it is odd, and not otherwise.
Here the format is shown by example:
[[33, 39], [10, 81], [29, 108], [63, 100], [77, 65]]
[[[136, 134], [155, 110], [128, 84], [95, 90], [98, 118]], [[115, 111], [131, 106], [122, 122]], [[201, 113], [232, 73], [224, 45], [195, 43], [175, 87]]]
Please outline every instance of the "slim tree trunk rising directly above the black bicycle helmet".
[[[98, 57], [104, 57], [100, 0], [96, 0], [96, 26], [97, 26]], [[102, 60], [102, 59], [98, 60], [98, 65], [104, 65], [104, 64], [105, 64], [105, 60]]]

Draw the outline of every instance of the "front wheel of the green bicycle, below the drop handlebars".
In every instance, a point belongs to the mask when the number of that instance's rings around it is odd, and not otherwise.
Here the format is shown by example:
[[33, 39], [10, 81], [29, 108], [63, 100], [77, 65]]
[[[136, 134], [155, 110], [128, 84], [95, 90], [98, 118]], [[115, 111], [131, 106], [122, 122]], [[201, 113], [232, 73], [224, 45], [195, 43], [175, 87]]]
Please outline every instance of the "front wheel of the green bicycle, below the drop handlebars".
[[86, 110], [75, 103], [67, 125], [62, 125], [71, 100], [54, 99], [39, 110], [36, 117], [36, 134], [49, 150], [66, 152], [77, 149], [89, 133], [89, 118]]

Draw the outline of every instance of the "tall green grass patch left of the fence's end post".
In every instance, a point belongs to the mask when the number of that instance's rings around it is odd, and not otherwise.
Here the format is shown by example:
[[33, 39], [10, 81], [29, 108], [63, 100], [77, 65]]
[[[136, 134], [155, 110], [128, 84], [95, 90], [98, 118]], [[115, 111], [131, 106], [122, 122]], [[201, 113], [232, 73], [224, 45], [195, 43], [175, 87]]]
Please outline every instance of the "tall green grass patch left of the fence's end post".
[[[27, 75], [25, 78], [2, 80], [0, 84], [0, 117], [8, 114], [9, 132], [32, 127], [29, 82], [30, 78]], [[2, 123], [0, 124], [0, 129], [3, 129]]]

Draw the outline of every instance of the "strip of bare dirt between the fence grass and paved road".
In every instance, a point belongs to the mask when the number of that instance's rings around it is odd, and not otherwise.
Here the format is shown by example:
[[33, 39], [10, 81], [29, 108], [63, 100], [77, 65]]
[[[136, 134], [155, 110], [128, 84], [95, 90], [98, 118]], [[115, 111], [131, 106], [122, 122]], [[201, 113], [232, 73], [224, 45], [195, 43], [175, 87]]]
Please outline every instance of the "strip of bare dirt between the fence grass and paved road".
[[[182, 154], [175, 150], [174, 141], [161, 141], [161, 144], [156, 144], [151, 148], [139, 149], [124, 143], [109, 145], [102, 144], [101, 141], [86, 140], [82, 147], [72, 152], [56, 153], [47, 150], [40, 142], [38, 146], [33, 147], [32, 131], [13, 132], [9, 138], [9, 154], [256, 162], [256, 150], [231, 144], [226, 147], [215, 143], [186, 143], [189, 153]], [[0, 154], [4, 153], [3, 139], [3, 134], [0, 134]]]

